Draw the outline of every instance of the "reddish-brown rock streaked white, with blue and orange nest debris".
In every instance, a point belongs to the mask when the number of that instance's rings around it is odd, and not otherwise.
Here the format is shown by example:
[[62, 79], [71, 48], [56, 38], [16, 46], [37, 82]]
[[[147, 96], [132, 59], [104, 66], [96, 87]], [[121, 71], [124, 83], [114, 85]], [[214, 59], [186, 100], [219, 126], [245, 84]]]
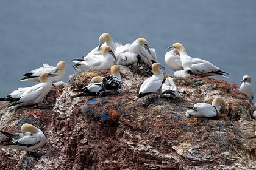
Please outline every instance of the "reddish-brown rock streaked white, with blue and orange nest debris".
[[[108, 70], [71, 75], [52, 87], [48, 109], [0, 108], [0, 130], [16, 132], [23, 123], [44, 131], [48, 142], [37, 157], [1, 148], [0, 169], [256, 169], [254, 107], [236, 84], [212, 78], [174, 78], [174, 100], [133, 101], [147, 78], [121, 67], [119, 94], [71, 98], [72, 90]], [[168, 77], [171, 75], [165, 75]], [[221, 96], [225, 109], [215, 118], [187, 118], [194, 103]], [[51, 105], [52, 104], [52, 105]]]

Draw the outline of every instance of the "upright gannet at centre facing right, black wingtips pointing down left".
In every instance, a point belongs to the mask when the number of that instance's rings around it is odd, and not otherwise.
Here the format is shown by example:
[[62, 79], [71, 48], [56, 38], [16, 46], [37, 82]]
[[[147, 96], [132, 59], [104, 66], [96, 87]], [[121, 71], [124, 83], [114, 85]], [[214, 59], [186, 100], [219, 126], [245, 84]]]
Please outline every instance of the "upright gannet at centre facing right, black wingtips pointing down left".
[[165, 67], [162, 67], [159, 63], [152, 64], [152, 72], [154, 75], [147, 78], [141, 84], [139, 94], [133, 100], [137, 100], [138, 98], [144, 97], [151, 93], [157, 93], [163, 82], [163, 72], [160, 70], [160, 68], [165, 69]]

